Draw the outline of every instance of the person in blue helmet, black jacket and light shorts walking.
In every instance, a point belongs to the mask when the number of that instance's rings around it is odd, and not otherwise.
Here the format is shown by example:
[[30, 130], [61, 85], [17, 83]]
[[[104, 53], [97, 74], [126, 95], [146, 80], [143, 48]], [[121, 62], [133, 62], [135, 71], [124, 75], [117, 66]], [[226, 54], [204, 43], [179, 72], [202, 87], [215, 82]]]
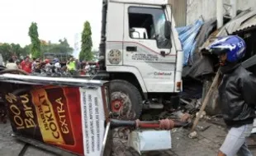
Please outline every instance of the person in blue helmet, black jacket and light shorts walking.
[[223, 78], [219, 86], [220, 107], [229, 130], [218, 156], [253, 156], [246, 145], [255, 118], [256, 77], [241, 66], [244, 39], [230, 35], [216, 39], [207, 48], [218, 55]]

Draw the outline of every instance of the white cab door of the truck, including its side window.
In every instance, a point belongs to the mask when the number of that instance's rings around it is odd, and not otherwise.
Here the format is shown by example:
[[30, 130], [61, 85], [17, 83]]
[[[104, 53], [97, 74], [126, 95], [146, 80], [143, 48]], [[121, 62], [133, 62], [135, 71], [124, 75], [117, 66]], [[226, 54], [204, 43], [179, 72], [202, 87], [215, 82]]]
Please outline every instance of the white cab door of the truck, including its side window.
[[173, 92], [176, 50], [164, 37], [163, 7], [125, 5], [123, 65], [136, 67], [148, 92]]

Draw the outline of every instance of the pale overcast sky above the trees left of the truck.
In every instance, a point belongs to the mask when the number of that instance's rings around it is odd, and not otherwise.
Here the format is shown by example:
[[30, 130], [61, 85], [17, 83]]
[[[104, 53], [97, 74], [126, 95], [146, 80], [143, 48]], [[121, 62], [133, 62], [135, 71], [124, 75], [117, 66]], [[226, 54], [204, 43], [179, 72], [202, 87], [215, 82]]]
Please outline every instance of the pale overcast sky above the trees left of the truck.
[[83, 23], [92, 27], [92, 49], [98, 49], [102, 21], [102, 0], [0, 0], [0, 43], [30, 44], [31, 22], [38, 26], [39, 38], [58, 43], [68, 39], [74, 47], [75, 34]]

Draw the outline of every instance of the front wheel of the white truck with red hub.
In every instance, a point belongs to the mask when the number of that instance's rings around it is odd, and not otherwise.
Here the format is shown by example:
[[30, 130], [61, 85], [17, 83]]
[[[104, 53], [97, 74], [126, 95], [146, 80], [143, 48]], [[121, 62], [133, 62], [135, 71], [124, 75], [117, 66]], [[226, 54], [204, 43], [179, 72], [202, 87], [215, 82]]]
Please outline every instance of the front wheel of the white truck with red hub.
[[142, 112], [142, 97], [139, 89], [126, 80], [112, 80], [110, 83], [111, 112], [114, 118], [134, 120]]

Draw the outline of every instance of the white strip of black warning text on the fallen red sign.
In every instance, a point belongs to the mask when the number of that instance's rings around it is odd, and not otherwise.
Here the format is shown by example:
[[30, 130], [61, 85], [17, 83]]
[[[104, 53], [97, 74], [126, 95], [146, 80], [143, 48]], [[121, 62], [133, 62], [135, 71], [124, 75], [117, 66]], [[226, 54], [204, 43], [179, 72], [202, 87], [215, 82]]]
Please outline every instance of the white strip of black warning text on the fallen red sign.
[[102, 151], [105, 132], [105, 116], [102, 93], [80, 88], [82, 103], [84, 155], [96, 156]]

